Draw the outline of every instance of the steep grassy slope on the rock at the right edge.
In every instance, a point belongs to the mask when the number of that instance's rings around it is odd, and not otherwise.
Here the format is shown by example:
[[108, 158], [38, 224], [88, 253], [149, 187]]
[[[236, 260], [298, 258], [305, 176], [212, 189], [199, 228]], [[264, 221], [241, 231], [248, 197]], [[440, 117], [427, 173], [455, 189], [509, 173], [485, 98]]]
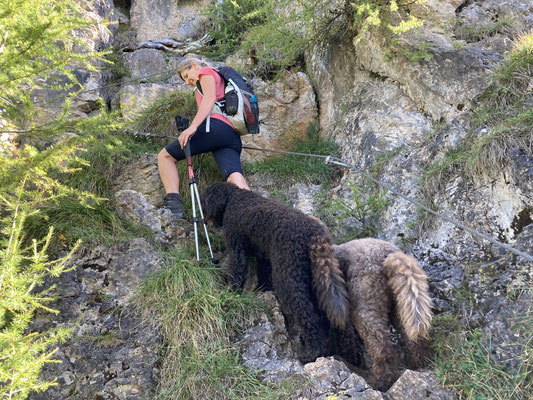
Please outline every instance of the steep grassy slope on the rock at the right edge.
[[516, 40], [494, 72], [492, 83], [475, 101], [471, 129], [459, 146], [435, 161], [422, 178], [422, 194], [433, 199], [457, 174], [499, 173], [511, 150], [533, 154], [533, 33]]

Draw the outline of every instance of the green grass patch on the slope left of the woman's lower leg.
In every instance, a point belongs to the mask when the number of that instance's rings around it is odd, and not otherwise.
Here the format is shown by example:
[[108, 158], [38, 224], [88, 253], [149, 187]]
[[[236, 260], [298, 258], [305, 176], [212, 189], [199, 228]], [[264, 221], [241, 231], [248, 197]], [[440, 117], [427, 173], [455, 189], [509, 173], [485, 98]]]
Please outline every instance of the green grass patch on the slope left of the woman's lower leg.
[[[78, 239], [110, 244], [139, 235], [152, 238], [150, 229], [118, 217], [108, 199], [122, 166], [160, 146], [129, 134], [97, 135], [84, 144], [68, 172], [57, 172], [68, 192], [41, 204], [26, 222], [28, 237], [42, 237], [50, 223], [56, 235], [52, 248], [70, 248]], [[80, 200], [80, 194], [83, 194]]]

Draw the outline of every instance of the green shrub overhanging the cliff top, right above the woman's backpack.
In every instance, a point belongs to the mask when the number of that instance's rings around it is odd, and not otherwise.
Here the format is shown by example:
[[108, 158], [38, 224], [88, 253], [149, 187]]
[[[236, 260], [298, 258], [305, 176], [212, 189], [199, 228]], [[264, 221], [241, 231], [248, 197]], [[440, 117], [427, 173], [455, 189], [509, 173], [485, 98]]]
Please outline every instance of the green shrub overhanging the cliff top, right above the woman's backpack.
[[420, 26], [422, 22], [409, 13], [411, 3], [358, 0], [329, 5], [322, 0], [222, 0], [206, 11], [211, 21], [208, 32], [216, 45], [205, 52], [222, 60], [242, 50], [253, 61], [251, 69], [271, 79], [284, 69], [303, 65], [304, 53], [317, 44], [335, 44], [351, 37], [359, 40], [372, 27], [381, 29], [390, 39]]

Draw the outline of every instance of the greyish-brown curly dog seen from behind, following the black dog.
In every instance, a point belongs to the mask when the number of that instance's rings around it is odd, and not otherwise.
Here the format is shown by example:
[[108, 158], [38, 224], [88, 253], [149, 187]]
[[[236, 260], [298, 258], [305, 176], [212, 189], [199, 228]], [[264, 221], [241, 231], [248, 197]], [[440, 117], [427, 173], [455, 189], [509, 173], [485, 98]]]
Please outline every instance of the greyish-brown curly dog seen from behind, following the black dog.
[[372, 360], [371, 384], [385, 391], [399, 376], [389, 316], [402, 333], [410, 368], [422, 367], [429, 355], [427, 275], [414, 258], [382, 240], [352, 240], [334, 250], [348, 285], [351, 321]]

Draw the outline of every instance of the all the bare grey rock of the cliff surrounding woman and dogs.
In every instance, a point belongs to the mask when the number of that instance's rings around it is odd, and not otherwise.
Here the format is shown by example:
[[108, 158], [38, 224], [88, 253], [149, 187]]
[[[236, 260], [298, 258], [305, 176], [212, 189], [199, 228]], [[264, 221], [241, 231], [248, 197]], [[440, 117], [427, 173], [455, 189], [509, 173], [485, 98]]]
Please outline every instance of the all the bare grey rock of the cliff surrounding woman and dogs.
[[[494, 69], [510, 49], [514, 31], [533, 28], [533, 8], [526, 3], [428, 0], [413, 4], [412, 13], [427, 22], [420, 30], [403, 35], [399, 45], [411, 51], [422, 46], [424, 55], [419, 59], [400, 52], [388, 57], [386, 41], [375, 31], [365, 33], [358, 41], [345, 39], [314, 48], [306, 55], [307, 74], [287, 73], [272, 85], [255, 82], [261, 102], [262, 135], [253, 138], [253, 144], [280, 148], [288, 131], [302, 135], [307, 124], [318, 118], [322, 134], [336, 140], [344, 161], [364, 171], [379, 165], [378, 179], [406, 196], [422, 200], [419, 181], [424, 170], [466, 138], [472, 100], [488, 87]], [[202, 39], [199, 11], [205, 4], [207, 1], [178, 5], [171, 0], [133, 0], [131, 19], [117, 17], [122, 24], [130, 23], [131, 29], [127, 34], [122, 31], [115, 35], [115, 48], [130, 77], [138, 80], [122, 84], [114, 94], [112, 106], [128, 116], [162, 93], [188, 90], [174, 71]], [[94, 7], [102, 15], [114, 15], [111, 3], [96, 2]], [[464, 26], [483, 27], [497, 18], [512, 20], [513, 30], [484, 37], [466, 35], [461, 30]], [[111, 38], [106, 37], [100, 45], [110, 43]], [[165, 77], [146, 78], [155, 74]], [[87, 82], [91, 79], [97, 85], [102, 78], [88, 76]], [[82, 100], [81, 109], [85, 107], [90, 112], [94, 99]], [[252, 139], [244, 141], [249, 143]], [[432, 202], [440, 213], [453, 220], [532, 254], [533, 159], [518, 149], [509, 151], [511, 162], [493, 171], [474, 176], [457, 172], [434, 192]], [[248, 160], [260, 157], [263, 155], [245, 155]], [[123, 215], [148, 225], [160, 243], [190, 240], [190, 227], [173, 230], [175, 221], [154, 209], [160, 206], [161, 184], [151, 163], [155, 164], [154, 155], [146, 156], [117, 182], [117, 207]], [[262, 183], [253, 178], [250, 181], [253, 189], [261, 189]], [[351, 182], [365, 184], [356, 171], [346, 170], [330, 197], [353, 201]], [[316, 193], [318, 188], [303, 186], [290, 189], [290, 198], [305, 212], [318, 214], [318, 202], [303, 195]], [[369, 191], [368, 196], [372, 195]], [[512, 349], [503, 344], [514, 340], [511, 310], [527, 312], [527, 298], [509, 295], [512, 288], [523, 286], [520, 282], [531, 281], [526, 260], [510, 257], [501, 248], [442, 219], [435, 218], [431, 225], [422, 224], [416, 217], [418, 208], [411, 202], [390, 193], [387, 198], [374, 221], [376, 236], [418, 258], [430, 277], [436, 312], [451, 311], [458, 303], [455, 291], [468, 288], [476, 307], [466, 317], [467, 322], [483, 327], [501, 359], [516, 358]], [[359, 223], [348, 220], [341, 228], [353, 230]], [[153, 354], [153, 346], [160, 338], [157, 332], [148, 334], [141, 329], [141, 322], [135, 319], [138, 316], [128, 314], [127, 324], [119, 323], [112, 307], [127, 307], [122, 296], [131, 288], [115, 287], [113, 282], [123, 268], [133, 268], [128, 273], [134, 271], [137, 278], [157, 269], [159, 255], [142, 241], [124, 246], [98, 249], [97, 254], [97, 250], [85, 250], [78, 258], [77, 272], [60, 283], [67, 299], [61, 314], [64, 321], [60, 323], [77, 326], [80, 332], [93, 337], [109, 334], [111, 342], [90, 342], [90, 348], [96, 349], [94, 354], [98, 355], [96, 363], [83, 361], [87, 342], [63, 348], [62, 366], [57, 369], [52, 365], [46, 371], [60, 377], [61, 387], [55, 392], [51, 389], [49, 397], [34, 398], [73, 398], [68, 396], [74, 392], [85, 393], [83, 398], [100, 399], [146, 396], [145, 387], [156, 379], [156, 374], [148, 370], [157, 369], [157, 360], [149, 354]], [[125, 259], [119, 256], [120, 252]], [[129, 259], [135, 262], [128, 266]], [[128, 282], [133, 284], [135, 279]], [[112, 291], [108, 290], [110, 285]], [[102, 293], [107, 297], [102, 297]], [[266, 376], [273, 381], [294, 374], [311, 378], [314, 384], [307, 394], [301, 393], [300, 399], [325, 398], [325, 393], [344, 396], [338, 398], [383, 398], [335, 360], [317, 360], [306, 366], [296, 362], [280, 323], [283, 318], [279, 309], [276, 314], [275, 299], [269, 300], [269, 296], [266, 295], [266, 303], [273, 315], [261, 316], [257, 327], [241, 341], [247, 366], [267, 370]], [[51, 322], [43, 319], [37, 324], [47, 323]], [[124, 331], [129, 326], [137, 327], [132, 336]], [[140, 353], [142, 357], [137, 358]], [[82, 389], [85, 384], [93, 385], [94, 390]], [[406, 389], [410, 386], [425, 389], [419, 394], [411, 393]], [[451, 398], [435, 384], [430, 372], [406, 373], [387, 396], [411, 400]]]

